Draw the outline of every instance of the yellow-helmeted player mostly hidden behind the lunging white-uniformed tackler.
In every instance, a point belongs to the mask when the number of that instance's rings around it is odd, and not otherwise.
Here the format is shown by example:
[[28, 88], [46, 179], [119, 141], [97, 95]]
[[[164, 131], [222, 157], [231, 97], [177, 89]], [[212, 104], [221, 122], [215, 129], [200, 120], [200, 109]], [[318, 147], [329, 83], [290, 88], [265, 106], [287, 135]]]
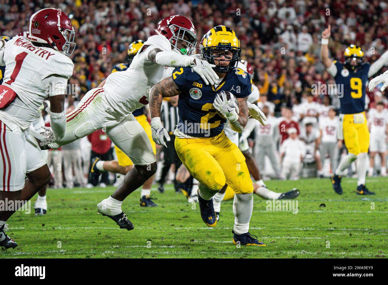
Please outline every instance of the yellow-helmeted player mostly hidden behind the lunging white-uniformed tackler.
[[[142, 48], [144, 45], [144, 41], [137, 40], [133, 41], [129, 47], [128, 47], [128, 63], [118, 63], [115, 66], [113, 66], [112, 72], [118, 72], [118, 71], [125, 71], [128, 69], [128, 67], [131, 65], [133, 58], [137, 54], [137, 52]], [[99, 87], [104, 86], [105, 80], [101, 82]], [[145, 112], [148, 112], [145, 107], [141, 107], [140, 109], [137, 109], [132, 112], [132, 115], [135, 116], [136, 120], [140, 123], [140, 125], [143, 127], [145, 132], [148, 135], [148, 138], [151, 142], [152, 150], [154, 151], [154, 154], [156, 154], [156, 145], [154, 141], [152, 140], [151, 136], [151, 126], [147, 121], [147, 116], [145, 115]], [[116, 151], [117, 155], [117, 161], [102, 161], [99, 159], [99, 157], [92, 158], [92, 167], [90, 168], [90, 182], [97, 186], [99, 183], [100, 174], [102, 171], [109, 171], [113, 173], [119, 173], [125, 175], [130, 169], [133, 167], [133, 162], [130, 160], [130, 158], [116, 145], [114, 146], [114, 149]], [[151, 176], [142, 187], [142, 193], [140, 193], [140, 206], [143, 207], [154, 207], [157, 206], [153, 201], [152, 197], [148, 195], [148, 190], [151, 189], [152, 181], [154, 180], [154, 176]]]

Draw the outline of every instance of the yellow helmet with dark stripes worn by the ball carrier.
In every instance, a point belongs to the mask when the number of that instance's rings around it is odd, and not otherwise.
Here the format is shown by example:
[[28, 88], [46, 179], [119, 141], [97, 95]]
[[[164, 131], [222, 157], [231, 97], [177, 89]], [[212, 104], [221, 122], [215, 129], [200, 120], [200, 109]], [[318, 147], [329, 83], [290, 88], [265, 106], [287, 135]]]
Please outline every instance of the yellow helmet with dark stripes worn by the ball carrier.
[[215, 50], [231, 50], [233, 52], [233, 56], [230, 59], [224, 55], [227, 59], [217, 60], [218, 62], [229, 61], [230, 63], [228, 66], [216, 64], [216, 67], [214, 67], [215, 71], [224, 73], [234, 70], [237, 67], [237, 62], [241, 55], [241, 47], [236, 33], [231, 28], [216, 26], [206, 33], [201, 43], [201, 54], [210, 64], [215, 64], [213, 58], [213, 52]]

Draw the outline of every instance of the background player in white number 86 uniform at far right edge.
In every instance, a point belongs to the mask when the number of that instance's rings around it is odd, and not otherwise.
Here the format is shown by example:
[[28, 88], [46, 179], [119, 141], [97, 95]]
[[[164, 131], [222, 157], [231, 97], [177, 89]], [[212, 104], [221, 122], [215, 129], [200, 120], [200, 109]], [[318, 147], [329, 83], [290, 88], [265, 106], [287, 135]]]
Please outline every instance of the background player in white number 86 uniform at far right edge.
[[376, 104], [376, 109], [369, 110], [369, 130], [371, 132], [371, 144], [369, 145], [369, 152], [371, 155], [371, 164], [369, 168], [369, 176], [373, 176], [374, 172], [374, 156], [380, 155], [381, 158], [381, 175], [386, 176], [386, 145], [388, 142], [388, 111], [384, 108], [383, 102]]

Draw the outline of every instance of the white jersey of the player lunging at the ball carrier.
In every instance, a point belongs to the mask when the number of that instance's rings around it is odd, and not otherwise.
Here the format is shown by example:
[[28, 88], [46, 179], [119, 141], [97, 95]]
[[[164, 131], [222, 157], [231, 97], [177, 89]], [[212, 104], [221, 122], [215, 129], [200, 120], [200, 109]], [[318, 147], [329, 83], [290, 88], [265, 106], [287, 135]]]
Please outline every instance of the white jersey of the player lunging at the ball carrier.
[[127, 70], [111, 73], [106, 78], [106, 99], [122, 116], [147, 105], [152, 86], [171, 76], [174, 70], [174, 67], [164, 67], [148, 60], [147, 55], [154, 48], [171, 50], [171, 44], [164, 36], [150, 36]]

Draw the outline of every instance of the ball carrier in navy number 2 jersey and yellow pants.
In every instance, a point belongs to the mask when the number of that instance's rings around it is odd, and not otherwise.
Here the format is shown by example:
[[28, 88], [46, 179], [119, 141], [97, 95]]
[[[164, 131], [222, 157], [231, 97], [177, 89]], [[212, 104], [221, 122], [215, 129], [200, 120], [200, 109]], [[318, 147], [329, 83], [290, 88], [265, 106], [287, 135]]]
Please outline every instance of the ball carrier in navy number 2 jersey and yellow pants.
[[213, 196], [229, 185], [236, 193], [234, 244], [265, 246], [248, 232], [253, 185], [245, 157], [223, 131], [224, 124], [229, 123], [234, 131], [242, 132], [248, 121], [247, 98], [252, 83], [249, 74], [237, 68], [240, 41], [232, 29], [216, 26], [206, 33], [201, 49], [219, 79], [215, 85], [206, 85], [191, 68], [181, 67], [154, 85], [149, 102], [152, 139], [159, 145], [169, 140], [161, 124], [161, 104], [163, 97], [179, 95], [175, 149], [187, 170], [199, 181], [201, 218], [210, 227], [217, 225]]

